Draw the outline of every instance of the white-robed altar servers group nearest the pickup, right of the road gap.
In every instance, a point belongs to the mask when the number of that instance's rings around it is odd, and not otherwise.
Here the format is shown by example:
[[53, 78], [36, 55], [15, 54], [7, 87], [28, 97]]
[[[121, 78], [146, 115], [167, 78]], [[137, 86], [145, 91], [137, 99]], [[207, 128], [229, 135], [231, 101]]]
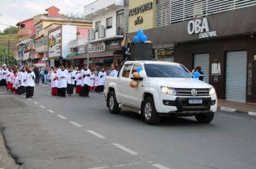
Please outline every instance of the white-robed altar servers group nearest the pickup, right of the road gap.
[[106, 72], [104, 68], [98, 74], [88, 69], [87, 65], [83, 69], [76, 70], [72, 66], [65, 69], [63, 65], [59, 69], [50, 71], [50, 81], [52, 87], [52, 96], [66, 97], [74, 95], [73, 91], [76, 88], [76, 95], [81, 97], [89, 97], [90, 91], [103, 93]]

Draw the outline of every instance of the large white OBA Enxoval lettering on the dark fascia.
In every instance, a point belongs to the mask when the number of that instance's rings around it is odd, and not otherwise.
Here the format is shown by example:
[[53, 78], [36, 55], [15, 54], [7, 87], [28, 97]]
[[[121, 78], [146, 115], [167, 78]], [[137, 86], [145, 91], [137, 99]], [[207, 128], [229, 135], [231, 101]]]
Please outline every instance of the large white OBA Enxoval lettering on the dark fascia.
[[217, 37], [216, 31], [210, 32], [207, 18], [189, 21], [188, 34], [199, 34], [199, 39]]

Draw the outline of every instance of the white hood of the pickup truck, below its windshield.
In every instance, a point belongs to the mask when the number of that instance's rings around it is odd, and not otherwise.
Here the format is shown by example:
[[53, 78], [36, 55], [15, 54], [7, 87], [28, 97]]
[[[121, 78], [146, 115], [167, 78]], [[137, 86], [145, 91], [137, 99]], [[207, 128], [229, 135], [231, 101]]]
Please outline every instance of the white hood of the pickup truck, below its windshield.
[[196, 88], [206, 89], [211, 88], [210, 84], [202, 82], [199, 79], [193, 78], [148, 78], [152, 84], [159, 84], [160, 86], [173, 87], [173, 88]]

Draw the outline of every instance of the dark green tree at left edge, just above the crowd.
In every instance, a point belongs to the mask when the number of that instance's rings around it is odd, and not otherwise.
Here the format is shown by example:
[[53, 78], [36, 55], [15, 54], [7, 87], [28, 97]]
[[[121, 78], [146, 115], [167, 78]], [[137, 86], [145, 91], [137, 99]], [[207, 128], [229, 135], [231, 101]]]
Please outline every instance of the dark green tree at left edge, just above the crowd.
[[[8, 49], [4, 46], [0, 46], [0, 64], [4, 64], [4, 56], [5, 56], [5, 63], [7, 63], [7, 57], [8, 57]], [[9, 57], [8, 57], [8, 64], [18, 64], [18, 61], [14, 58], [14, 52], [9, 51]]]

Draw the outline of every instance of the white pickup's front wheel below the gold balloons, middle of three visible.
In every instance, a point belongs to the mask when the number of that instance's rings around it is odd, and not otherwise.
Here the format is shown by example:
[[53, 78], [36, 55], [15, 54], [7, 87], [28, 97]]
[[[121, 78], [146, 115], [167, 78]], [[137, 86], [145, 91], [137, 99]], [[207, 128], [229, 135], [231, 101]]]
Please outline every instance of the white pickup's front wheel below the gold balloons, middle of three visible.
[[142, 117], [148, 125], [157, 125], [160, 122], [161, 117], [157, 114], [157, 111], [155, 110], [155, 103], [152, 97], [147, 97], [144, 100], [142, 105]]

